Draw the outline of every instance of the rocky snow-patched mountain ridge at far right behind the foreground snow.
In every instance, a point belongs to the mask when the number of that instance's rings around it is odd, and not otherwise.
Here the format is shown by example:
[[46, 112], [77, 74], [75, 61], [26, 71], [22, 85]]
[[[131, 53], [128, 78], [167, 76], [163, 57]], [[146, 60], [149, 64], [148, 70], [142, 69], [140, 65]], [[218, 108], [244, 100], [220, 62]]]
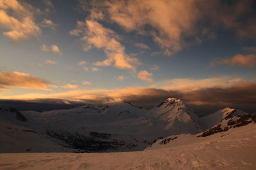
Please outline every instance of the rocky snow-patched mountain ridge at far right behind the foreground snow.
[[146, 148], [146, 150], [201, 143], [227, 136], [230, 133], [236, 133], [236, 130], [234, 129], [237, 127], [242, 127], [248, 124], [251, 125], [250, 127], [254, 127], [255, 123], [256, 115], [251, 115], [244, 111], [232, 108], [224, 108], [223, 110], [216, 111], [200, 118], [200, 125], [203, 125], [207, 130], [198, 134], [179, 134], [171, 135], [166, 138], [157, 138], [150, 146], [148, 146], [148, 148]]

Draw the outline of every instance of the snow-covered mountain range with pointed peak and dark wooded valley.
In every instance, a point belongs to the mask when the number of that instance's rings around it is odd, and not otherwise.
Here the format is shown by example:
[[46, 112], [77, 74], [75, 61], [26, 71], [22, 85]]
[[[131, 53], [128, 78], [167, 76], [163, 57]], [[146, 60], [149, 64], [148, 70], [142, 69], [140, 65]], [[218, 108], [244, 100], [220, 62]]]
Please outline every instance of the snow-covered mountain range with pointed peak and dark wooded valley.
[[[26, 130], [22, 132], [31, 132], [30, 137], [26, 133], [26, 139], [31, 138], [33, 141], [36, 134], [36, 138], [46, 139], [46, 143], [57, 145], [58, 152], [63, 151], [63, 148], [70, 148], [73, 152], [120, 152], [143, 150], [157, 138], [204, 132], [221, 122], [227, 123], [230, 118], [247, 114], [240, 110], [225, 108], [199, 118], [191, 108], [175, 98], [168, 98], [151, 110], [128, 102], [86, 104], [70, 110], [45, 112], [20, 113], [14, 108], [1, 108], [0, 120], [5, 124], [5, 129], [0, 135], [5, 136], [6, 127], [13, 129], [19, 126], [19, 129]], [[33, 135], [32, 131], [35, 132]], [[15, 137], [13, 133], [12, 138], [19, 137]], [[7, 143], [2, 138], [0, 142]], [[13, 145], [16, 143], [13, 142]], [[1, 149], [1, 152], [5, 151]], [[32, 148], [31, 152], [36, 152], [36, 149]]]

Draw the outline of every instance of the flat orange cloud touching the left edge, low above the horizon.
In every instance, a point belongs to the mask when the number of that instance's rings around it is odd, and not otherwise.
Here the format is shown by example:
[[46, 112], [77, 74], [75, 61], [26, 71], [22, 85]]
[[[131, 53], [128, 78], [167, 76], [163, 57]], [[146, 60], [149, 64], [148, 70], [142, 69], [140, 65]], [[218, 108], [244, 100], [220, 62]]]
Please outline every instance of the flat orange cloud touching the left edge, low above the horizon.
[[0, 71], [0, 88], [24, 88], [24, 89], [40, 89], [50, 90], [49, 81], [31, 76], [28, 73], [21, 73], [18, 71], [3, 72]]

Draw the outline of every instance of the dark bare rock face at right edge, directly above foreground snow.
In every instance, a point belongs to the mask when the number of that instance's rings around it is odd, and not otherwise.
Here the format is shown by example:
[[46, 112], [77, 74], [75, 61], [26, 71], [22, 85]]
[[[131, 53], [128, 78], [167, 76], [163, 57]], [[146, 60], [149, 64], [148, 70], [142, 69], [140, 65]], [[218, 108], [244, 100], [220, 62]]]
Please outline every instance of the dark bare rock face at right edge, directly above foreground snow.
[[[234, 110], [234, 113], [236, 113], [236, 110]], [[218, 132], [228, 131], [231, 128], [241, 127], [243, 125], [248, 125], [253, 122], [256, 123], [256, 115], [246, 114], [243, 116], [236, 115], [233, 117], [231, 117], [230, 115], [232, 115], [232, 114], [229, 114], [228, 117], [225, 117], [226, 120], [229, 119], [226, 125], [223, 125], [223, 124], [221, 125], [221, 123], [218, 125], [215, 125], [211, 129], [208, 129], [203, 134], [196, 136], [196, 137], [198, 138], [198, 137], [210, 136], [210, 135], [216, 134]]]

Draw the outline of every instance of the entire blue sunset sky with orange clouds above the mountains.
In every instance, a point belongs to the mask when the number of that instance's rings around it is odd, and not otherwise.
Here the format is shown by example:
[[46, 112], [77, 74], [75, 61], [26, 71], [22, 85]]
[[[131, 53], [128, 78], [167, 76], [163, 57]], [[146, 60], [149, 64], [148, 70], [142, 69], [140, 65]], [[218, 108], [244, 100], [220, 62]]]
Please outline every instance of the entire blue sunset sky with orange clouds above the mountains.
[[0, 0], [0, 99], [178, 97], [256, 113], [253, 0]]

